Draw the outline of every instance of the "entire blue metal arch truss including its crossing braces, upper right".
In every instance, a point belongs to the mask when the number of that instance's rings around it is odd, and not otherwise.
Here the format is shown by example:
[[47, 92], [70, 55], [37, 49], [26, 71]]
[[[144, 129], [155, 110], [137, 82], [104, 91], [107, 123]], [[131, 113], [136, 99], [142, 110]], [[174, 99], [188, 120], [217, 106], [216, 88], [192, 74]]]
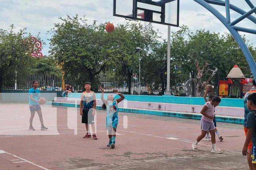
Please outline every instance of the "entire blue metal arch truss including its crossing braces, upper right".
[[[171, 1], [173, 1], [173, 0], [160, 0], [160, 1], [157, 1], [157, 4], [162, 5], [164, 3], [168, 3]], [[240, 46], [243, 54], [245, 55], [245, 58], [250, 66], [250, 70], [252, 71], [253, 77], [256, 78], [256, 63], [255, 63], [248, 47], [246, 46], [242, 37], [238, 33], [238, 31], [240, 31], [240, 32], [256, 34], [256, 30], [248, 29], [245, 27], [235, 26], [237, 23], [239, 23], [240, 21], [242, 21], [245, 18], [248, 18], [250, 21], [252, 21], [253, 23], [256, 24], [256, 18], [251, 15], [253, 13], [256, 14], [256, 7], [252, 4], [252, 2], [250, 0], [245, 0], [245, 2], [249, 5], [251, 10], [244, 11], [237, 6], [230, 4], [229, 0], [194, 0], [194, 1], [196, 3], [202, 5], [203, 7], [205, 7], [214, 16], [216, 16], [216, 18], [218, 18], [221, 21], [221, 23], [223, 23], [223, 25], [225, 27], [227, 27], [227, 29], [230, 31], [230, 33], [232, 34], [232, 36], [235, 38], [238, 45]], [[226, 9], [226, 18], [210, 4], [224, 6]], [[241, 14], [241, 16], [231, 22], [230, 21], [230, 10], [238, 12], [239, 14]]]

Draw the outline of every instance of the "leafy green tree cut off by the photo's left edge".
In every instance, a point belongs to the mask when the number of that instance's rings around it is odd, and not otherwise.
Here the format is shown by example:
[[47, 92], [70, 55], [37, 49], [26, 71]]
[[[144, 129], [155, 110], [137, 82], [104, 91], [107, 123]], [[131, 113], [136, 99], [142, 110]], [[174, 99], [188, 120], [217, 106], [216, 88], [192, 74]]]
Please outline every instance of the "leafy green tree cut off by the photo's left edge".
[[0, 29], [0, 93], [5, 77], [10, 78], [15, 73], [27, 74], [33, 63], [28, 52], [29, 44], [25, 41], [31, 35], [25, 36], [28, 34], [26, 29], [15, 33], [14, 28], [11, 25], [9, 30]]

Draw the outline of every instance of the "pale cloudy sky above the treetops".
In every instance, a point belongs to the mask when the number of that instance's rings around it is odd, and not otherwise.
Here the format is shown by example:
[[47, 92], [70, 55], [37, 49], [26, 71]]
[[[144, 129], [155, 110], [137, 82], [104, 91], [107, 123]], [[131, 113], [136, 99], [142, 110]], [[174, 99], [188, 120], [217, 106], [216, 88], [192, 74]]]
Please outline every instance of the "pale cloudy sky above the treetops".
[[[250, 10], [244, 0], [230, 0], [230, 3], [245, 11]], [[256, 6], [255, 0], [252, 0], [252, 3]], [[225, 16], [225, 7], [212, 6]], [[127, 7], [125, 6], [125, 8]], [[230, 13], [231, 22], [241, 16], [234, 11]], [[34, 36], [40, 33], [40, 37], [46, 42], [46, 45], [43, 45], [42, 52], [44, 55], [48, 55], [50, 50], [48, 39], [51, 38], [51, 35], [47, 34], [47, 31], [54, 27], [54, 23], [61, 22], [58, 17], [65, 18], [67, 15], [75, 16], [76, 14], [79, 17], [85, 16], [89, 24], [94, 20], [97, 23], [125, 24], [124, 18], [113, 16], [113, 0], [0, 0], [0, 29], [9, 29], [10, 25], [14, 24], [17, 32], [26, 27], [26, 32]], [[256, 17], [254, 13], [252, 15]], [[145, 23], [142, 22], [142, 24]], [[199, 29], [220, 32], [221, 34], [228, 32], [227, 28], [213, 14], [193, 0], [180, 0], [179, 26], [182, 25], [188, 26], [191, 32]], [[152, 26], [155, 30], [159, 29], [162, 37], [167, 39], [168, 26], [156, 23], [153, 23]], [[256, 28], [255, 23], [248, 19], [239, 22], [237, 26]], [[178, 27], [171, 27], [172, 32], [178, 29]], [[241, 34], [245, 34], [250, 44], [256, 47], [255, 34], [243, 32]]]

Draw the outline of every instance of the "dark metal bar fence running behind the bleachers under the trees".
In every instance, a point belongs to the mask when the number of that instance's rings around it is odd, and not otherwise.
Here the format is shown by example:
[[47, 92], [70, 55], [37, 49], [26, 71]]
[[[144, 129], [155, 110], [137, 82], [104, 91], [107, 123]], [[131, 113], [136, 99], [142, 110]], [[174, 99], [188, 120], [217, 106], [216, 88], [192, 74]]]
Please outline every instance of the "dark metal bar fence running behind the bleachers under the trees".
[[[29, 90], [32, 88], [32, 82], [37, 80], [39, 82], [40, 90], [63, 90], [65, 83], [69, 83], [74, 88], [74, 92], [82, 92], [84, 90], [84, 83], [89, 81], [88, 78], [81, 76], [69, 75], [20, 75], [12, 74], [4, 77], [3, 89], [7, 90]], [[186, 93], [184, 80], [179, 78], [171, 78], [170, 91], [175, 96], [184, 96]], [[92, 88], [95, 92], [100, 92], [100, 86], [104, 88], [107, 93], [113, 92], [114, 89], [121, 93], [128, 94], [128, 81], [125, 78], [94, 78]], [[166, 89], [166, 84], [164, 84]], [[148, 81], [141, 79], [141, 90], [139, 90], [138, 79], [131, 79], [131, 93], [132, 95], [162, 95], [162, 83], [160, 80]], [[166, 90], [165, 90], [166, 91]]]

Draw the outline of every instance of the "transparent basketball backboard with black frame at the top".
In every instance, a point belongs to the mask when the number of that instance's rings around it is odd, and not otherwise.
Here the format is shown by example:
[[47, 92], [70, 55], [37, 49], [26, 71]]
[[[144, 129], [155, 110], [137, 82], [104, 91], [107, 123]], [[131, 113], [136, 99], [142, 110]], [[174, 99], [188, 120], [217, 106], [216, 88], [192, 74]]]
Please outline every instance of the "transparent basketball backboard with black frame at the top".
[[179, 0], [113, 0], [113, 15], [179, 26]]

